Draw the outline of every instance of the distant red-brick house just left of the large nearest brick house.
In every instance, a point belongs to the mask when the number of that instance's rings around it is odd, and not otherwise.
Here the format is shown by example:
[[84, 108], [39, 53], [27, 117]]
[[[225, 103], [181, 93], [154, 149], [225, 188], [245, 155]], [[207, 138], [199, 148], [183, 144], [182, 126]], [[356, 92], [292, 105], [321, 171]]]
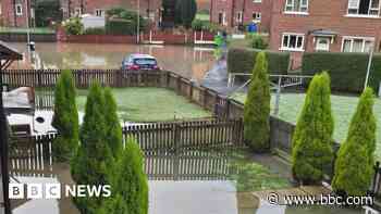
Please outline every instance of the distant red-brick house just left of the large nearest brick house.
[[268, 32], [271, 3], [272, 0], [210, 0], [210, 21], [226, 28], [255, 22]]

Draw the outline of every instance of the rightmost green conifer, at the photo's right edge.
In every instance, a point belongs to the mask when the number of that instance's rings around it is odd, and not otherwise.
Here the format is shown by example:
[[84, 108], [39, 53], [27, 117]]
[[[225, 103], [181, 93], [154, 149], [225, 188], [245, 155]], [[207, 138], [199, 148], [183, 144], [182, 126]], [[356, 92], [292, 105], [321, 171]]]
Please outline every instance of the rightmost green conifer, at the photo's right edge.
[[376, 118], [373, 91], [367, 88], [358, 102], [348, 135], [340, 147], [332, 187], [336, 192], [364, 196], [373, 175], [376, 150]]

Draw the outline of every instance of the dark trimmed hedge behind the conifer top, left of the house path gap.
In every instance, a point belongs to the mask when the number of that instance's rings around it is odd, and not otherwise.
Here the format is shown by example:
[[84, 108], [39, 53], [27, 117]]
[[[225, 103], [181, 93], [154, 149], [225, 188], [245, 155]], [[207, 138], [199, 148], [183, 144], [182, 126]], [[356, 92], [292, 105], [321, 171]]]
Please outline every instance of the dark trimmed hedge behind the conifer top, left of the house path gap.
[[[263, 50], [248, 48], [231, 48], [228, 52], [229, 73], [250, 73], [257, 53]], [[290, 53], [265, 50], [269, 62], [269, 74], [287, 74]]]

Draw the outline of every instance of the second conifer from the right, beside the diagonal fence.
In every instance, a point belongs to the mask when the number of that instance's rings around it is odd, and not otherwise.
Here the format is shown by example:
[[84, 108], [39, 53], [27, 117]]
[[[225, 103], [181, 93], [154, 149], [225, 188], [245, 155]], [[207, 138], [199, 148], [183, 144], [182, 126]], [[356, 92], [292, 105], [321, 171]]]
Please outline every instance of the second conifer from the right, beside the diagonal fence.
[[330, 95], [329, 75], [325, 72], [315, 75], [293, 137], [293, 175], [303, 184], [320, 182], [323, 168], [332, 163], [333, 117]]

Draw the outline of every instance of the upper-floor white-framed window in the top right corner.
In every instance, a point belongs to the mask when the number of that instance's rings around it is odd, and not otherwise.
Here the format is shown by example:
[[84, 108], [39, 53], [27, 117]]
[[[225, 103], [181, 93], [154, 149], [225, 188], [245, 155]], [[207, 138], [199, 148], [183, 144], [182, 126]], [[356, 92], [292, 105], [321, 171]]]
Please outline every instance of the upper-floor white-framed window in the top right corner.
[[348, 0], [348, 14], [379, 16], [380, 0]]

